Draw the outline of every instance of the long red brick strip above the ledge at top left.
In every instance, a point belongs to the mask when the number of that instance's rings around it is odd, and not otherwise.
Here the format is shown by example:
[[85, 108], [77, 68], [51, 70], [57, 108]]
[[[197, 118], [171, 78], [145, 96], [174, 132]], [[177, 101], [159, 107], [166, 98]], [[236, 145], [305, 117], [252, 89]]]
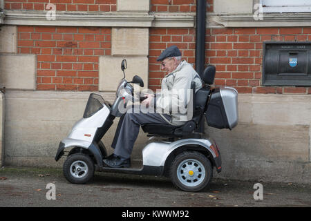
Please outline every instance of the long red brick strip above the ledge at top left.
[[100, 11], [112, 12], [117, 10], [117, 0], [5, 0], [7, 10], [50, 10], [48, 3], [53, 3], [59, 11]]

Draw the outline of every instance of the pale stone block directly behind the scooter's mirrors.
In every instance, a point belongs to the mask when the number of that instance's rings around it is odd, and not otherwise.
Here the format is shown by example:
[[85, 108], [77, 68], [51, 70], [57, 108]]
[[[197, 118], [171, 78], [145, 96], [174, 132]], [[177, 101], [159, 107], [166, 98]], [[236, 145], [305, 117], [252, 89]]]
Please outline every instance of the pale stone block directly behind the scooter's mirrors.
[[131, 81], [134, 75], [138, 75], [144, 81], [144, 88], [148, 86], [148, 58], [147, 57], [100, 57], [100, 91], [116, 91], [117, 85], [123, 78], [121, 70], [122, 59], [127, 61], [125, 70], [126, 79]]

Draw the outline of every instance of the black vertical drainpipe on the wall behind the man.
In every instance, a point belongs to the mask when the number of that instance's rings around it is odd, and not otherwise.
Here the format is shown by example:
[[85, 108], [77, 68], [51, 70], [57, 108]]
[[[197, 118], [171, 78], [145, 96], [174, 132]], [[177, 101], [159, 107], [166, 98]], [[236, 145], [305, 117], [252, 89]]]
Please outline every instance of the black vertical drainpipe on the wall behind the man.
[[[205, 69], [206, 1], [196, 0], [196, 72], [202, 77]], [[204, 133], [205, 117], [196, 132]]]

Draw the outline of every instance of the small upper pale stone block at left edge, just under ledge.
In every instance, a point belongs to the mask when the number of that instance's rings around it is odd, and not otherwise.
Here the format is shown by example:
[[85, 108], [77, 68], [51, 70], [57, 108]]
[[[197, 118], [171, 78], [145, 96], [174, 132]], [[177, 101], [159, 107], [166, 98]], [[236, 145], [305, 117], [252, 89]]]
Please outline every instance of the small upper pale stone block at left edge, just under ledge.
[[17, 27], [16, 26], [1, 26], [0, 52], [2, 53], [16, 53], [17, 52]]

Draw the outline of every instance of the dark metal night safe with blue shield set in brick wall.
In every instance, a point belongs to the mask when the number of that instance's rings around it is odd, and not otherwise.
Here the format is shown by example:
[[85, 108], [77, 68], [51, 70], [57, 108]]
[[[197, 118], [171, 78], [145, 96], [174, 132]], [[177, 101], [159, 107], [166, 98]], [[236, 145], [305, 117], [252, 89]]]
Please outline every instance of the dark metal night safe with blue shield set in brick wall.
[[264, 86], [311, 86], [311, 42], [263, 42]]

